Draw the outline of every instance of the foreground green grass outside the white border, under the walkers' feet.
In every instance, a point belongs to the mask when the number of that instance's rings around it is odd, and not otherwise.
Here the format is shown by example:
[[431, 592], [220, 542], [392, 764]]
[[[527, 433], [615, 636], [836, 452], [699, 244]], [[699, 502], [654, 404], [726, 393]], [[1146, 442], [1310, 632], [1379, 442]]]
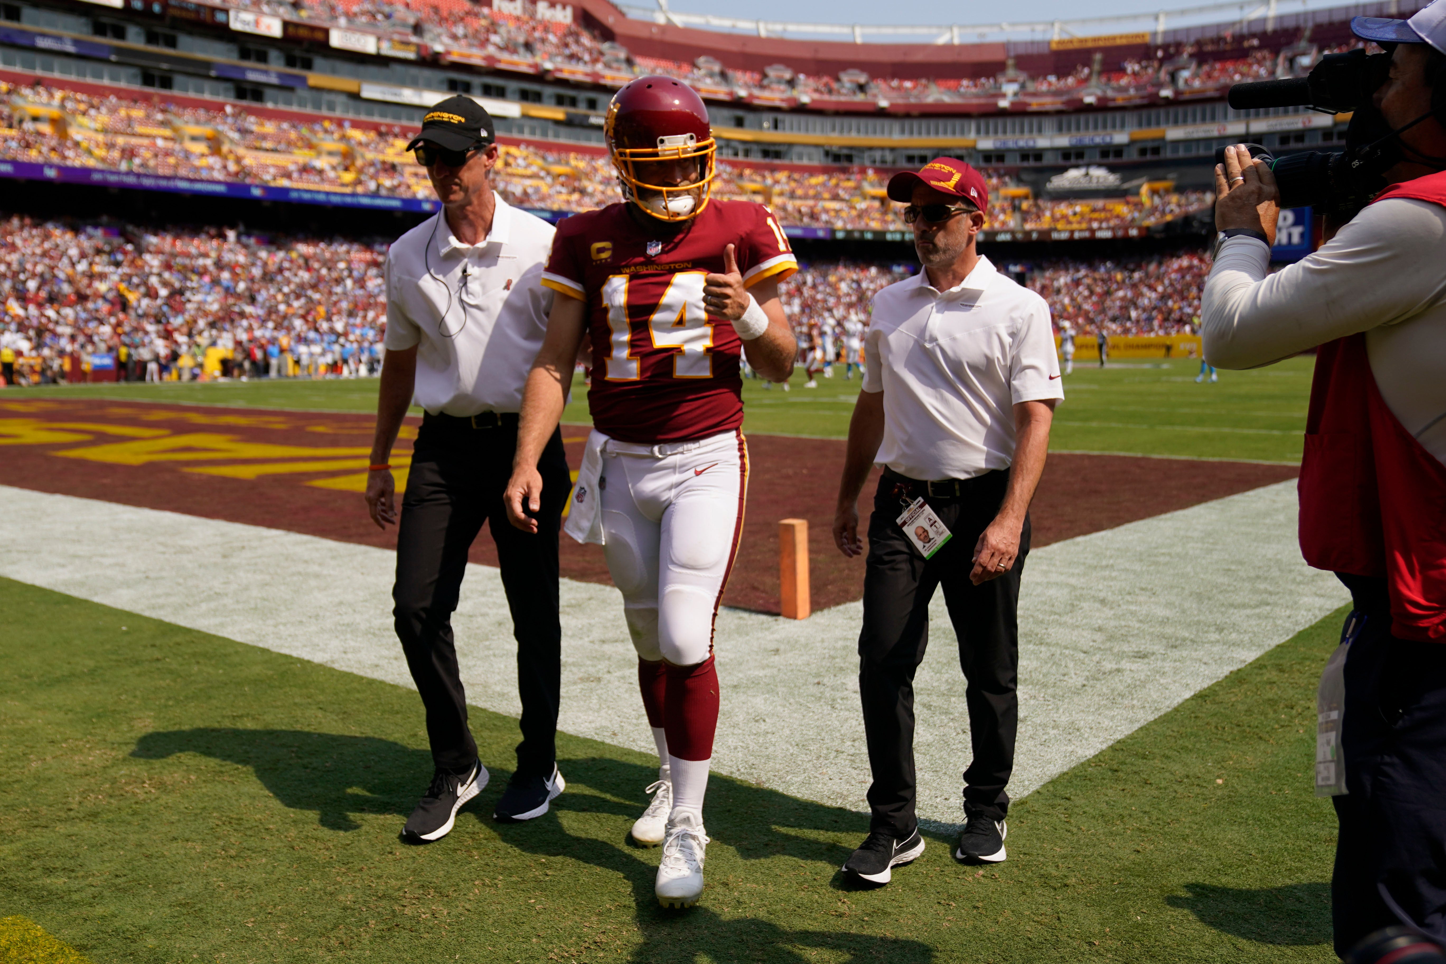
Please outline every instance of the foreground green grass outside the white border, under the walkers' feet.
[[625, 843], [638, 753], [562, 736], [568, 791], [496, 825], [516, 727], [473, 710], [492, 785], [406, 847], [414, 692], [6, 580], [0, 613], [0, 950], [27, 919], [97, 964], [1335, 960], [1310, 760], [1339, 614], [1018, 802], [988, 870], [930, 837], [844, 889], [863, 815], [716, 776], [709, 890], [669, 912]]

